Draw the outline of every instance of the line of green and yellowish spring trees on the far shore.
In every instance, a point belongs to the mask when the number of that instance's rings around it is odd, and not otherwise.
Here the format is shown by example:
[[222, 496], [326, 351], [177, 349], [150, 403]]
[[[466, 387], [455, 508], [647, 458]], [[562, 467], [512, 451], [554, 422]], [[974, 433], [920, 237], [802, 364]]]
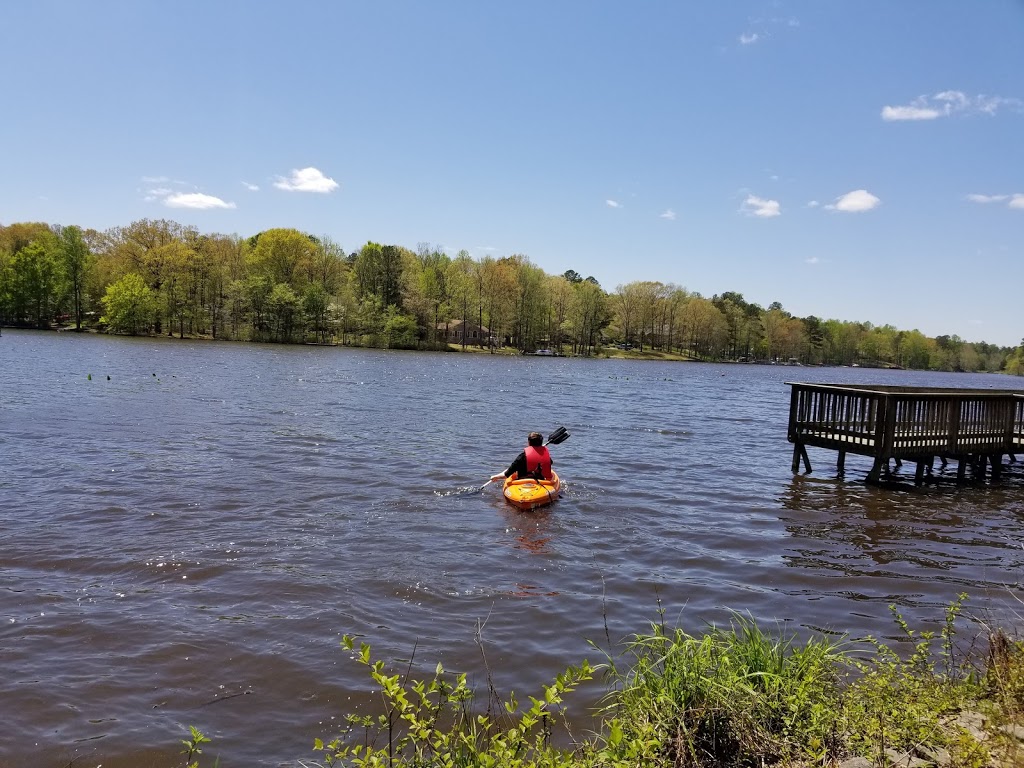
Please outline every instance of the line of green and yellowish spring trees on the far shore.
[[346, 253], [297, 229], [244, 239], [164, 219], [105, 231], [0, 225], [0, 324], [404, 349], [446, 349], [458, 330], [459, 344], [492, 350], [593, 355], [614, 345], [702, 360], [1024, 374], [1024, 340], [999, 347], [797, 317], [778, 302], [658, 282], [607, 292], [521, 254], [474, 259], [379, 243]]

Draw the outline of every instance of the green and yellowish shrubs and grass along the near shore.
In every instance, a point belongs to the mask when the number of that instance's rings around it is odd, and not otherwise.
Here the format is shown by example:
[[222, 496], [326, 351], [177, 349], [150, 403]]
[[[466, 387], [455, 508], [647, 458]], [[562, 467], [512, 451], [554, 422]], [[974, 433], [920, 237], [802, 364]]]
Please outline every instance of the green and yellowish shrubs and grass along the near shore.
[[[1024, 765], [1024, 643], [980, 623], [987, 643], [962, 649], [965, 596], [938, 632], [898, 638], [806, 640], [734, 613], [728, 627], [690, 635], [659, 622], [603, 659], [557, 676], [536, 696], [485, 696], [465, 675], [413, 679], [345, 637], [367, 668], [375, 712], [348, 714], [342, 733], [313, 749], [318, 766], [380, 768], [716, 768]], [[897, 652], [897, 649], [899, 652]], [[595, 650], [597, 647], [595, 646]], [[608, 685], [597, 733], [574, 734], [567, 702], [581, 684]], [[484, 700], [485, 699], [485, 700]], [[556, 745], [569, 743], [570, 746]], [[208, 739], [184, 741], [190, 768]], [[216, 765], [217, 763], [209, 763]]]

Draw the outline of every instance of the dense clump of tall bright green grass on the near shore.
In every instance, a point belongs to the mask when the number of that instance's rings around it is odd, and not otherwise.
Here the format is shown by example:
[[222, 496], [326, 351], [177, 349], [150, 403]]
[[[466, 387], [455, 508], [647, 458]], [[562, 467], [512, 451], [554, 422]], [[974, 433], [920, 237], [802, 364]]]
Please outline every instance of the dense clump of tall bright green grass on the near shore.
[[629, 643], [628, 671], [611, 665], [605, 756], [671, 766], [836, 757], [840, 647], [772, 637], [740, 614], [700, 638], [653, 625]]

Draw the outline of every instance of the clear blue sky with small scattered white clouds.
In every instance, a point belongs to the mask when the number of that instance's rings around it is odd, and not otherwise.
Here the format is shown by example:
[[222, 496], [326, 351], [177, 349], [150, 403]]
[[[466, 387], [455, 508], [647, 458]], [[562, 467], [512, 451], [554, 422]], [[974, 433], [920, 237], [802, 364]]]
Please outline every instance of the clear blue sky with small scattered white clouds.
[[0, 4], [0, 223], [523, 254], [1024, 336], [1024, 2]]

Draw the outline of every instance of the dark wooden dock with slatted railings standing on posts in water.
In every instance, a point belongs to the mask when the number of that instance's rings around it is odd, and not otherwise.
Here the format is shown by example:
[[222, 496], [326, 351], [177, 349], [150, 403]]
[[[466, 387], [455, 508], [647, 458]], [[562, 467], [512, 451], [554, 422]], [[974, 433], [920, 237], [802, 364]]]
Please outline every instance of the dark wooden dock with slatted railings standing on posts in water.
[[838, 451], [841, 471], [848, 453], [871, 457], [869, 483], [904, 461], [916, 462], [916, 484], [936, 460], [955, 461], [958, 481], [969, 468], [998, 478], [1004, 458], [1024, 454], [1024, 391], [786, 383], [794, 472], [801, 460], [811, 471], [808, 445]]

